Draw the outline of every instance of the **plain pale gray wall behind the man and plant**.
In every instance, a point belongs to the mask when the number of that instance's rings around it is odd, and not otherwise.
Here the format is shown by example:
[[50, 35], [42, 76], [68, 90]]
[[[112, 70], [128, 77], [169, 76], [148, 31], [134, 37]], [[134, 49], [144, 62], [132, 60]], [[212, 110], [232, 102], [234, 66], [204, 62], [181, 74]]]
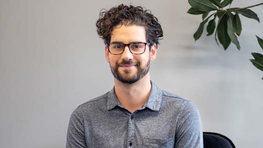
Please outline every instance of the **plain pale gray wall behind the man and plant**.
[[[65, 147], [72, 111], [113, 87], [95, 21], [100, 9], [121, 2], [151, 9], [163, 27], [151, 79], [192, 100], [204, 131], [259, 148], [263, 73], [249, 59], [263, 53], [255, 37], [263, 37], [263, 23], [241, 16], [241, 51], [224, 51], [205, 33], [195, 43], [201, 17], [186, 13], [187, 0], [0, 0], [0, 148]], [[262, 6], [252, 9], [263, 20]]]

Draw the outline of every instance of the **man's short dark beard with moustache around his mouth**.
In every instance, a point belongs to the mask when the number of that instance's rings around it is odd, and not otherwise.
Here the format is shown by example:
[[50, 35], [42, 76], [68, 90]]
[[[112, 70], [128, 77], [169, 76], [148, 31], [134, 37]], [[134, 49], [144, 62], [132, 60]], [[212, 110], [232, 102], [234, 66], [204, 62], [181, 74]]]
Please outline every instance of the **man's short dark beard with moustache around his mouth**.
[[[137, 71], [136, 73], [132, 74], [131, 69], [125, 69], [122, 73], [119, 71], [120, 65], [135, 65], [137, 67]], [[112, 66], [111, 64], [110, 66], [112, 74], [117, 80], [126, 84], [132, 84], [143, 78], [148, 73], [150, 68], [150, 59], [148, 59], [147, 64], [144, 67], [140, 66], [140, 62], [134, 63], [132, 60], [123, 61], [121, 63], [118, 63], [117, 61], [115, 66]]]

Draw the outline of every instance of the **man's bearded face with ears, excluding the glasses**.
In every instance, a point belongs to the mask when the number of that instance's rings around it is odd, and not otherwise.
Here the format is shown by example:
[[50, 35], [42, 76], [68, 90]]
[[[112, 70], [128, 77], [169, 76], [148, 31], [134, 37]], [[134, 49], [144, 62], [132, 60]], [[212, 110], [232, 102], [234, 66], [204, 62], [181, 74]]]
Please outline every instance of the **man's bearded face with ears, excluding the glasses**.
[[[111, 42], [132, 43], [132, 42], [146, 42], [145, 29], [138, 25], [119, 25], [113, 29], [111, 35]], [[150, 60], [155, 58], [156, 45], [152, 46], [149, 51], [146, 45], [143, 54], [132, 54], [129, 47], [120, 55], [113, 55], [109, 53], [109, 49], [105, 47], [106, 59], [110, 63], [114, 77], [127, 84], [132, 84], [143, 78], [149, 72]]]

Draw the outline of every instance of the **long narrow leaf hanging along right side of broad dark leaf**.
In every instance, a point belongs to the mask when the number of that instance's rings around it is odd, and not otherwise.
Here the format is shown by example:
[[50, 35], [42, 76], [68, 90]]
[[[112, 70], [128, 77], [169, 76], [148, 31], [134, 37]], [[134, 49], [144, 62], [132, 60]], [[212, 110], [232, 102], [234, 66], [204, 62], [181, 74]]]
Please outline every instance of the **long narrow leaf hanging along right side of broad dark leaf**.
[[227, 33], [231, 39], [231, 41], [237, 46], [237, 48], [240, 50], [240, 44], [238, 41], [238, 38], [235, 34], [234, 27], [233, 27], [233, 14], [231, 12], [228, 12], [228, 21], [227, 21]]

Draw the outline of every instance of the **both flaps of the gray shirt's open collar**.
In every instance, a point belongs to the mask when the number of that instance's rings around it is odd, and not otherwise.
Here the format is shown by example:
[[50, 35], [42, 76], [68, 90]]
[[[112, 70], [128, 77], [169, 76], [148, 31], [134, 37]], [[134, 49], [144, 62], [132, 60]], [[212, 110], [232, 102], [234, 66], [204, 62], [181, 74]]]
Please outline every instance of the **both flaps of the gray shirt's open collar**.
[[[150, 95], [147, 101], [142, 106], [142, 109], [147, 107], [152, 111], [159, 111], [162, 101], [162, 90], [158, 88], [152, 81], [150, 81], [150, 83], [151, 83]], [[107, 109], [108, 111], [112, 110], [118, 105], [122, 106], [118, 101], [118, 98], [115, 94], [115, 89], [113, 87], [113, 89], [108, 93]]]

